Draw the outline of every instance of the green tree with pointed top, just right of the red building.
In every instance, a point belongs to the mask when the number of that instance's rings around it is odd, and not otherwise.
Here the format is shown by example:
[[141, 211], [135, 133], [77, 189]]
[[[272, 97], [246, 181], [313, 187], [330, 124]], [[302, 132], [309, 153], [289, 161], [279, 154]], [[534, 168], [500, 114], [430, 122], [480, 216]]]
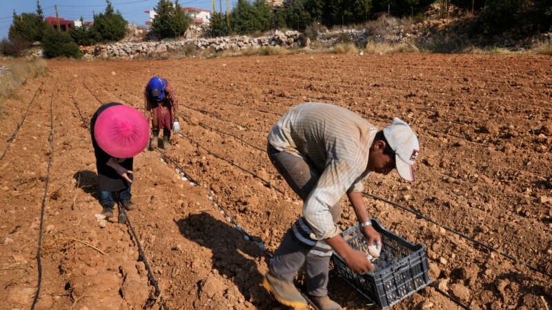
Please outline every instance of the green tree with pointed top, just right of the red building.
[[126, 35], [127, 21], [121, 12], [115, 12], [110, 0], [106, 0], [106, 3], [106, 10], [94, 17], [94, 30], [101, 41], [119, 41]]

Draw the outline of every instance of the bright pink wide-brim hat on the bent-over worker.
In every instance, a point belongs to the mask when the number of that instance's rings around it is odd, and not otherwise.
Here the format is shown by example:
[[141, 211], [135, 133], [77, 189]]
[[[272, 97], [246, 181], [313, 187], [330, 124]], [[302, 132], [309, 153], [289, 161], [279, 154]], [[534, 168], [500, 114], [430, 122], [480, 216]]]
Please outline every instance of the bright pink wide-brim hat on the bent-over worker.
[[134, 107], [113, 105], [99, 114], [94, 138], [99, 147], [113, 157], [134, 157], [148, 144], [148, 121]]

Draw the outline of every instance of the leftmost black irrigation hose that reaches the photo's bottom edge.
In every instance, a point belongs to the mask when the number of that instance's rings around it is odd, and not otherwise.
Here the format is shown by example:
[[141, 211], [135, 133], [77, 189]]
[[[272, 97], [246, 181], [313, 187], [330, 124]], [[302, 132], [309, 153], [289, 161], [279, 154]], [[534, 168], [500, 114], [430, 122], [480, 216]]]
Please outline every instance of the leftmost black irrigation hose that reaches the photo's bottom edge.
[[54, 157], [54, 112], [53, 112], [53, 103], [54, 103], [54, 90], [52, 88], [52, 99], [50, 100], [50, 134], [48, 135], [48, 142], [50, 143], [50, 154], [48, 156], [48, 166], [46, 167], [46, 179], [44, 180], [44, 194], [42, 196], [42, 204], [40, 207], [40, 226], [39, 226], [39, 240], [37, 247], [37, 265], [38, 265], [38, 282], [37, 282], [37, 291], [34, 292], [34, 298], [30, 309], [34, 309], [34, 305], [37, 304], [40, 294], [40, 285], [42, 284], [42, 261], [41, 261], [41, 246], [42, 246], [42, 227], [44, 223], [44, 207], [46, 206], [46, 194], [48, 194], [48, 185], [50, 185], [50, 167], [52, 166], [52, 159]]

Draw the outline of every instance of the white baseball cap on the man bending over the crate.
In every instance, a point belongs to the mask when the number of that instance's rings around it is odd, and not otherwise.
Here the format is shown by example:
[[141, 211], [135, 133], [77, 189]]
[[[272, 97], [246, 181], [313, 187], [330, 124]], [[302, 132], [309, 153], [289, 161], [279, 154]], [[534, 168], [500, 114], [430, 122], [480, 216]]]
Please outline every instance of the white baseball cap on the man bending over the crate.
[[397, 172], [404, 180], [413, 182], [415, 180], [414, 163], [420, 154], [420, 144], [416, 134], [407, 123], [395, 117], [391, 125], [384, 128], [384, 136], [395, 152]]

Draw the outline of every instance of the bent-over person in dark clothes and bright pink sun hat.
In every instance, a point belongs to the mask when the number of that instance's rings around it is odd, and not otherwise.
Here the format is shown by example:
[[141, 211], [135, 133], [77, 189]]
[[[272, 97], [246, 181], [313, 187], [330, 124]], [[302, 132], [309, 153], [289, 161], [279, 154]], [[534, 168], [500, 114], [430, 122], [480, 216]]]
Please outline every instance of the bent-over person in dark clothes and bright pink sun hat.
[[102, 214], [107, 219], [112, 218], [113, 192], [120, 198], [124, 209], [135, 209], [136, 205], [130, 200], [132, 162], [148, 144], [146, 117], [134, 107], [106, 103], [92, 116], [90, 135], [96, 156]]

